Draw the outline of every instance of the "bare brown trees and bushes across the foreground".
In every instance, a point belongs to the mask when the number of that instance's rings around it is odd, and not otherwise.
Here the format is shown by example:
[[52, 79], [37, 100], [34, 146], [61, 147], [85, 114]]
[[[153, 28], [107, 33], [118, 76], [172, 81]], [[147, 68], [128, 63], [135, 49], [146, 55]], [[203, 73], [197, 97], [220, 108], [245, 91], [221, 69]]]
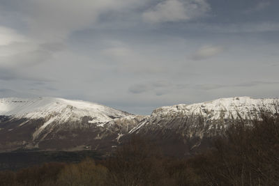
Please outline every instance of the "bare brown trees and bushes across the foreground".
[[279, 185], [279, 116], [231, 125], [213, 150], [187, 160], [165, 157], [135, 137], [112, 157], [47, 163], [0, 172], [0, 185]]

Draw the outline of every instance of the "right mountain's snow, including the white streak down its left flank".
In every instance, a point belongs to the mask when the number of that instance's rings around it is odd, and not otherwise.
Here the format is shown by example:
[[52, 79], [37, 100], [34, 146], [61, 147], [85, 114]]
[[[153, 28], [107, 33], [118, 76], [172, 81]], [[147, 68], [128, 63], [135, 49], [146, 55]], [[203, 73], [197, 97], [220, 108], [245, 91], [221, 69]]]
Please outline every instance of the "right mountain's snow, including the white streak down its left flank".
[[273, 113], [279, 110], [279, 99], [252, 99], [250, 97], [221, 98], [196, 104], [177, 104], [155, 109], [151, 117], [140, 123], [129, 133], [140, 130], [146, 125], [171, 123], [174, 118], [202, 116], [205, 123], [236, 118], [253, 119], [260, 114], [260, 109]]

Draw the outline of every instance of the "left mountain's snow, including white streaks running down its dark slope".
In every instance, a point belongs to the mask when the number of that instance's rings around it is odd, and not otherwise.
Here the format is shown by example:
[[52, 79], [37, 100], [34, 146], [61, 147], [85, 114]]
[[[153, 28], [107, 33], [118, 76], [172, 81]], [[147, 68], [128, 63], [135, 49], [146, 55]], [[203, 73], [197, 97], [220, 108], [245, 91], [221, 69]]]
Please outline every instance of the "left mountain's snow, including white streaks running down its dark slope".
[[[11, 120], [10, 123], [20, 122], [17, 125], [6, 125], [8, 126], [6, 130], [20, 131], [24, 126], [28, 127], [32, 123], [35, 128], [29, 132], [33, 141], [37, 142], [55, 136], [59, 131], [65, 133], [85, 128], [93, 130], [98, 125], [113, 121], [115, 118], [130, 115], [124, 111], [80, 100], [62, 98], [0, 99], [0, 116], [8, 116]], [[98, 130], [96, 129], [96, 131]]]

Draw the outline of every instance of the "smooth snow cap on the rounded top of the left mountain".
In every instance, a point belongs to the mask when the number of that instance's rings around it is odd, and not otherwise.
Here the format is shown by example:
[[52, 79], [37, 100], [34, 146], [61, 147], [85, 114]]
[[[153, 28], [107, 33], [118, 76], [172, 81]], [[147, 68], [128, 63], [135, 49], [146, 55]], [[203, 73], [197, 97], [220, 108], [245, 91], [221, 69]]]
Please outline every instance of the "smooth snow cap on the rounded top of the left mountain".
[[130, 114], [105, 107], [100, 104], [62, 98], [2, 98], [0, 99], [0, 116], [15, 118], [52, 118], [59, 116], [59, 121], [78, 121], [83, 116], [93, 118], [91, 123], [103, 123], [113, 118]]

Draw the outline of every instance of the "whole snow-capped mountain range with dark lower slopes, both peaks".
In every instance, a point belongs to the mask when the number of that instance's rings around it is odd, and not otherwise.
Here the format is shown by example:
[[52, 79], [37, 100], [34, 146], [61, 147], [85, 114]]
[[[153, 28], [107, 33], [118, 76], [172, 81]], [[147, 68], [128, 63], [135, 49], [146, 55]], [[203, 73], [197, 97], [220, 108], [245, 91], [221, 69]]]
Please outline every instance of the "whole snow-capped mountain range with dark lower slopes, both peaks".
[[129, 114], [92, 102], [61, 98], [0, 99], [0, 152], [100, 150], [110, 153], [137, 134], [167, 155], [188, 156], [211, 147], [236, 121], [247, 125], [262, 111], [278, 113], [278, 99], [222, 98]]

